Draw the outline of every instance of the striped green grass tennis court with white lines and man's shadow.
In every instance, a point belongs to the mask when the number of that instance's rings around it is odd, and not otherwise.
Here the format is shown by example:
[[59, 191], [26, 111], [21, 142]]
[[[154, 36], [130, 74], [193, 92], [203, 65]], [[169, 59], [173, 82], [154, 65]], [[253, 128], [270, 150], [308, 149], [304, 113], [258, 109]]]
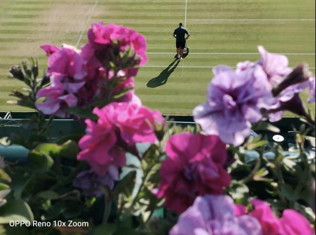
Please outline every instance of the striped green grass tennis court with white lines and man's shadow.
[[[6, 104], [10, 90], [22, 89], [7, 78], [13, 64], [38, 56], [44, 69], [40, 45], [80, 47], [90, 23], [101, 20], [146, 37], [149, 60], [136, 94], [163, 114], [191, 115], [206, 101], [212, 67], [256, 61], [257, 45], [286, 54], [290, 67], [307, 62], [315, 74], [315, 0], [0, 0], [0, 112], [27, 110]], [[191, 33], [190, 54], [173, 68], [179, 22]]]

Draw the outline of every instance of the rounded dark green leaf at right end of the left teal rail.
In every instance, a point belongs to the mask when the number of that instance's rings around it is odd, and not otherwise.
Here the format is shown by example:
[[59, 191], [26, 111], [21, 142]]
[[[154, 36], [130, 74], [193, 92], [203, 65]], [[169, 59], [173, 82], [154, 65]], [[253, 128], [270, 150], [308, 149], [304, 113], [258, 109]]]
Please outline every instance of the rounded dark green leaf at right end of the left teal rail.
[[54, 160], [49, 155], [36, 150], [30, 151], [28, 160], [32, 167], [39, 171], [47, 171], [54, 164]]

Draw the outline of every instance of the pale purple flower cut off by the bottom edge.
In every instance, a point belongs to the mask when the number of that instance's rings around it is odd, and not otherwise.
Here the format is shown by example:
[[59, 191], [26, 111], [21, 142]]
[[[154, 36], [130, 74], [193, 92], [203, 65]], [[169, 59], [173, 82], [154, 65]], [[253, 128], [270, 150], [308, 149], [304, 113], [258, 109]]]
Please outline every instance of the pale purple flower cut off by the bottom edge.
[[234, 215], [229, 196], [197, 197], [193, 206], [180, 215], [169, 235], [262, 235], [257, 219]]

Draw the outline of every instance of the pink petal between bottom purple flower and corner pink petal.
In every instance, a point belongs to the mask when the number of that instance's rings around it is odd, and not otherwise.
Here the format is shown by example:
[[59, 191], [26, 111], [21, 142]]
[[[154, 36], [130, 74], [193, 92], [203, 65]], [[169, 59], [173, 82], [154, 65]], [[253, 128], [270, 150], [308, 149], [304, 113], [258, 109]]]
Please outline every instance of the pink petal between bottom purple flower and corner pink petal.
[[263, 235], [278, 235], [280, 222], [273, 215], [269, 203], [257, 199], [252, 200], [251, 203], [255, 209], [249, 213], [249, 216], [258, 219], [263, 230]]

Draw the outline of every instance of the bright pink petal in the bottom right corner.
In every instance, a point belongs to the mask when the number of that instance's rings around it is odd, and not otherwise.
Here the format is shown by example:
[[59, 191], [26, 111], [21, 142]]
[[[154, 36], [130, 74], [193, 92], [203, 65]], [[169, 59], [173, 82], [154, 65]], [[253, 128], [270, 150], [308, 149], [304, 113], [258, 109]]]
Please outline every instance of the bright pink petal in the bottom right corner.
[[309, 221], [295, 210], [283, 211], [280, 218], [281, 235], [314, 235], [315, 231]]

